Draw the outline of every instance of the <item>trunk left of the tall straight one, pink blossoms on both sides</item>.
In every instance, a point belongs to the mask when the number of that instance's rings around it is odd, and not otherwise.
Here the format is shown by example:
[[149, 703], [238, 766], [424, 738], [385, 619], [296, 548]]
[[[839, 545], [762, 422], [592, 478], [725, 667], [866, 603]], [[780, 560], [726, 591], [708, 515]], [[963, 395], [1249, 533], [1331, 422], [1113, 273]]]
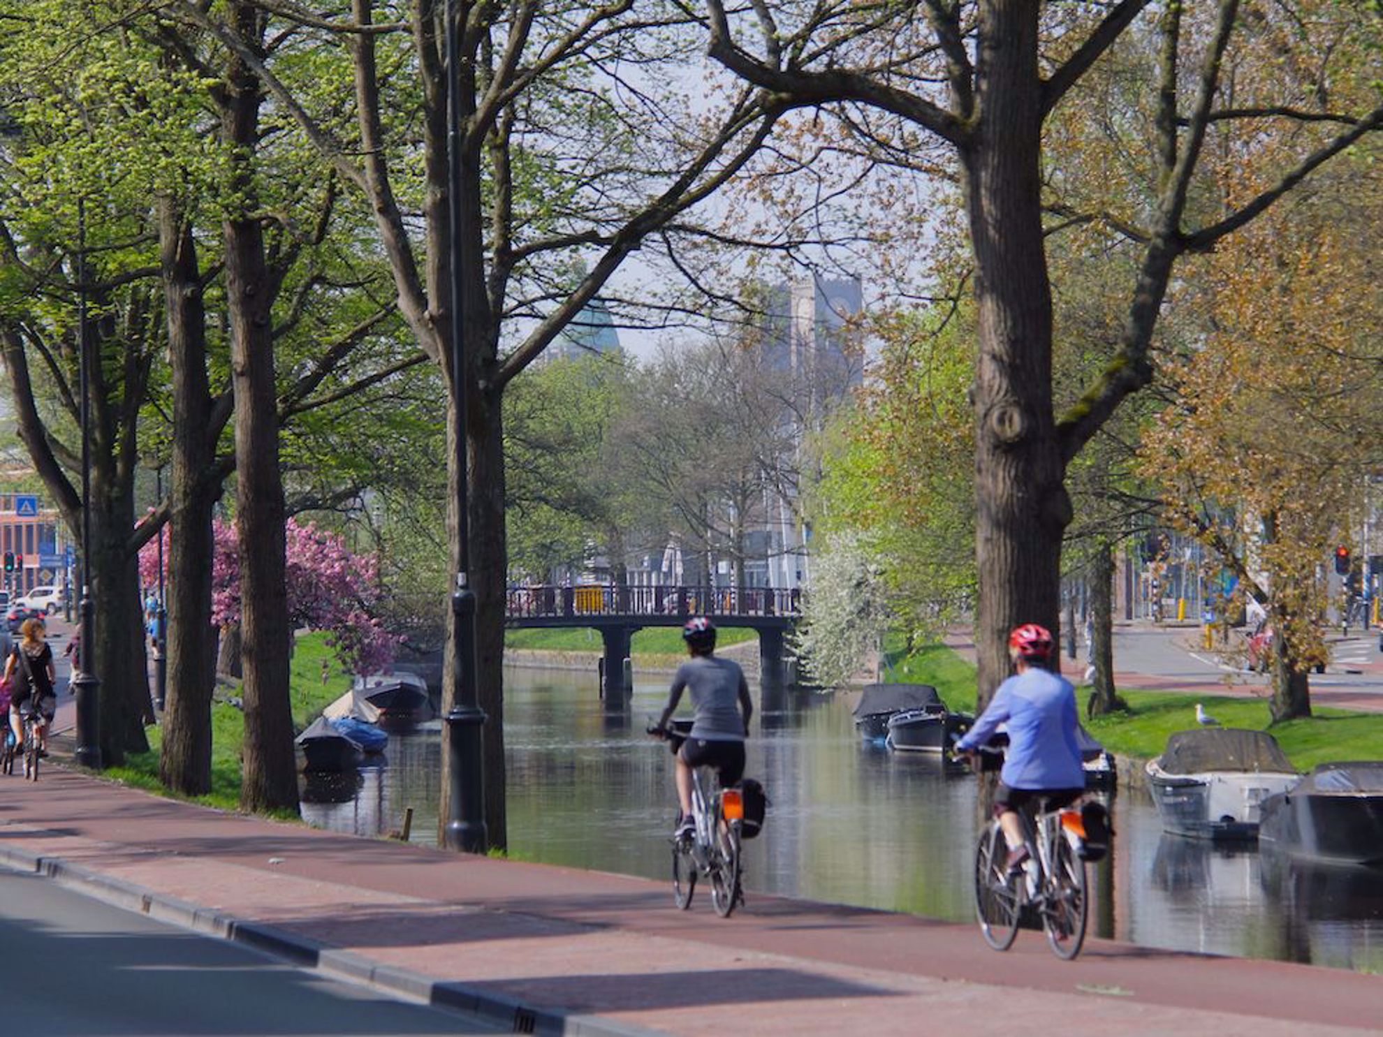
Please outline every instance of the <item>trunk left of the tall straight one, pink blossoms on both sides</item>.
[[[212, 791], [212, 509], [202, 485], [214, 440], [206, 376], [206, 308], [191, 224], [159, 199], [163, 296], [173, 368], [173, 480], [169, 488], [167, 695], [159, 777], [183, 795]], [[162, 535], [162, 534], [160, 534]]]

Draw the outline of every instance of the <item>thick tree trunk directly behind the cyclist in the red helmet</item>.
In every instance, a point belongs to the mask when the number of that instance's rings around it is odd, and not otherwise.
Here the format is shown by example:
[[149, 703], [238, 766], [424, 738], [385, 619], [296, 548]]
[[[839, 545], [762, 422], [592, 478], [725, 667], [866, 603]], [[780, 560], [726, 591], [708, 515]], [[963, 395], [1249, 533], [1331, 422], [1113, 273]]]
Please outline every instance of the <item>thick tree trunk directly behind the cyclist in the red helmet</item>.
[[1010, 673], [1008, 632], [1058, 633], [1070, 498], [1051, 397], [1051, 290], [1040, 205], [1039, 6], [989, 0], [978, 53], [978, 140], [961, 152], [975, 250], [979, 355], [975, 494], [979, 705]]

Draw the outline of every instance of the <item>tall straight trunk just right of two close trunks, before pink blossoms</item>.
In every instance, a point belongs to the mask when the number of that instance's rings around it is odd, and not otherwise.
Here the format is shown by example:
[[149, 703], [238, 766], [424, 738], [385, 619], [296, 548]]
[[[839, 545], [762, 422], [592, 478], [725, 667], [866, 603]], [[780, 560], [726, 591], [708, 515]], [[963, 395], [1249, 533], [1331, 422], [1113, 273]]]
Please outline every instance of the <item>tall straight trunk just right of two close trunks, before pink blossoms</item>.
[[[232, 6], [241, 39], [260, 47], [263, 15]], [[241, 561], [241, 664], [245, 668], [246, 810], [296, 810], [293, 713], [289, 702], [286, 512], [278, 465], [278, 397], [274, 384], [272, 299], [264, 234], [256, 210], [250, 155], [257, 145], [260, 84], [230, 58], [223, 133], [234, 145], [231, 194], [239, 212], [223, 225], [225, 299], [231, 317], [235, 387], [236, 535]]]

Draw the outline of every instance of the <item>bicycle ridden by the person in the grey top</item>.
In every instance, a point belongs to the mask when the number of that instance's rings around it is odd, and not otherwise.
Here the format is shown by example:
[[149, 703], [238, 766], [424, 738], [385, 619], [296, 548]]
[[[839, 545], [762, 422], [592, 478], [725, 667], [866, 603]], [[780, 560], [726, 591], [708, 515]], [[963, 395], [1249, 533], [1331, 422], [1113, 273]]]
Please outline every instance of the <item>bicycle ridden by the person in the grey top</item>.
[[[687, 720], [674, 720], [671, 730], [657, 725], [647, 727], [649, 734], [668, 741], [674, 752], [682, 748], [689, 730]], [[704, 770], [708, 767], [692, 770], [692, 835], [679, 832], [672, 839], [672, 901], [683, 911], [692, 907], [697, 877], [704, 875], [711, 882], [711, 906], [718, 915], [729, 918], [744, 903], [740, 859], [744, 798], [739, 788], [707, 795]]]

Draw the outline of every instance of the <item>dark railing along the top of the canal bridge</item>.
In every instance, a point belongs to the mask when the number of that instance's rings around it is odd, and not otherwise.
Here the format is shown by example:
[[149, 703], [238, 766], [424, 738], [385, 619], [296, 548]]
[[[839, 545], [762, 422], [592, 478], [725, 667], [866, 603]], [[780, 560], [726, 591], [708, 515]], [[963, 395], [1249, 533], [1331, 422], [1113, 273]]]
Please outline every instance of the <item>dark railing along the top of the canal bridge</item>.
[[510, 588], [505, 611], [512, 619], [582, 615], [795, 615], [799, 590], [757, 586], [577, 586]]

